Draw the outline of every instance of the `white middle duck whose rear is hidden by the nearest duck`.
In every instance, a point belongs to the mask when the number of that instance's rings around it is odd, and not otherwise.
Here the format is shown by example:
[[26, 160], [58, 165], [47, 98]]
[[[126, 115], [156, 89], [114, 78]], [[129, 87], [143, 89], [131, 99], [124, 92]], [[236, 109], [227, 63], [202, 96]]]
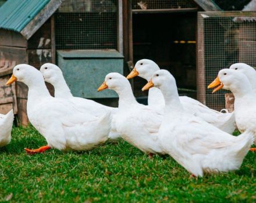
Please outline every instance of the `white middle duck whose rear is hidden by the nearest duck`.
[[161, 153], [158, 129], [162, 114], [151, 107], [139, 104], [134, 98], [129, 81], [119, 73], [109, 73], [98, 88], [112, 89], [118, 93], [119, 106], [116, 114], [116, 130], [126, 142], [137, 147], [149, 157]]

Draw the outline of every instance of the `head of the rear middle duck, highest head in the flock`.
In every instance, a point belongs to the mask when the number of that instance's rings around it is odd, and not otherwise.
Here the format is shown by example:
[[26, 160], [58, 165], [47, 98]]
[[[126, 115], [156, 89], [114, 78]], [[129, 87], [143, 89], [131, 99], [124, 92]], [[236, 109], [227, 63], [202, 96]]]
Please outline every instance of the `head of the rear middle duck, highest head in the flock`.
[[131, 73], [127, 75], [126, 78], [131, 79], [138, 75], [139, 77], [147, 79], [147, 81], [149, 81], [152, 74], [159, 69], [159, 66], [154, 61], [149, 59], [141, 59], [137, 61], [133, 68], [133, 71], [131, 71]]

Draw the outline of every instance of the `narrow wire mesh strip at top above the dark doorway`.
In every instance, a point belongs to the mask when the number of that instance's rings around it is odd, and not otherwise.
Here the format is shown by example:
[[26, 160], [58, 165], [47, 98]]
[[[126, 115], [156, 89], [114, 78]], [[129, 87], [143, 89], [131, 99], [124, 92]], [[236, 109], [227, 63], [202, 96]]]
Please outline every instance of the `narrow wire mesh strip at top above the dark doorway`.
[[132, 9], [184, 9], [197, 8], [190, 0], [133, 0]]

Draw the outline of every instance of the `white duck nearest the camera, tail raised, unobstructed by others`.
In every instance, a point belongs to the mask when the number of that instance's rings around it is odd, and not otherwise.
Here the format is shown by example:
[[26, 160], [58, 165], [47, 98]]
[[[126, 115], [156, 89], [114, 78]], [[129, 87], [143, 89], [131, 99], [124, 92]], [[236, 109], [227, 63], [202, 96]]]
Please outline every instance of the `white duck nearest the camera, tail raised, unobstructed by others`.
[[158, 134], [164, 152], [194, 176], [240, 168], [253, 143], [253, 132], [232, 136], [187, 113], [180, 102], [175, 78], [166, 70], [156, 71], [143, 89], [151, 86], [161, 89], [166, 104]]

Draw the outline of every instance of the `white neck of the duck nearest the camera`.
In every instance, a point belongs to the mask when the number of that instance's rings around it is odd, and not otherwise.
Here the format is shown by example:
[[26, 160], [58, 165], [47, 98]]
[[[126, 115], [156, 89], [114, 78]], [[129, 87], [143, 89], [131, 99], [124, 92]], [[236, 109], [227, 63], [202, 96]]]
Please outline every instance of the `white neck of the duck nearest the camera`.
[[177, 91], [177, 87], [169, 88], [162, 88], [163, 98], [165, 99], [165, 112], [175, 112], [175, 111], [182, 111], [182, 103], [180, 103], [179, 94]]

